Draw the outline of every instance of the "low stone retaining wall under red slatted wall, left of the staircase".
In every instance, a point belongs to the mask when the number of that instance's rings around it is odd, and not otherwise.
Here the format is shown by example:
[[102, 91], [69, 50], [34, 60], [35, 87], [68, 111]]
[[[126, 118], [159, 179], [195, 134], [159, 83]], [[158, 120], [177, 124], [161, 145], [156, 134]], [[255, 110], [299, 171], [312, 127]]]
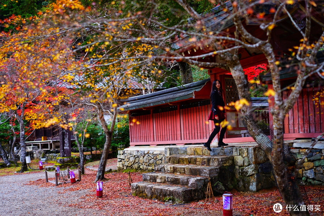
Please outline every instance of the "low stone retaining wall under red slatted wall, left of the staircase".
[[117, 169], [154, 170], [154, 165], [164, 164], [164, 150], [119, 150]]

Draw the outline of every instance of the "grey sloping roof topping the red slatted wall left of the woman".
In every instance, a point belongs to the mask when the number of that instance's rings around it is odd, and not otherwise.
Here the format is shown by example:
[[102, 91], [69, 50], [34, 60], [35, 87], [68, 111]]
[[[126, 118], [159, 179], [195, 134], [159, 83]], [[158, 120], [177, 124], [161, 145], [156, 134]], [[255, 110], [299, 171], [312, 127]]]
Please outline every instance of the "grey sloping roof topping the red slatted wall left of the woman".
[[126, 104], [119, 107], [119, 109], [127, 111], [168, 104], [180, 100], [193, 99], [195, 98], [195, 91], [201, 90], [209, 80], [210, 79], [204, 79], [180, 87], [173, 87], [150, 94], [131, 97], [128, 98]]

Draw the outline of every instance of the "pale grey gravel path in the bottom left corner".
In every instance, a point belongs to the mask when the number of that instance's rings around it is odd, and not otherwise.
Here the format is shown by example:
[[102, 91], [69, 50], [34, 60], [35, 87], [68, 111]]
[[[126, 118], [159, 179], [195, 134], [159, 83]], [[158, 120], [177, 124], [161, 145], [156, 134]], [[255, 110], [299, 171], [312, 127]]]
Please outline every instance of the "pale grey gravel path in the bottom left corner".
[[100, 211], [94, 209], [68, 206], [88, 194], [87, 190], [59, 194], [63, 188], [24, 185], [38, 179], [45, 180], [45, 174], [0, 176], [0, 215], [101, 215]]

